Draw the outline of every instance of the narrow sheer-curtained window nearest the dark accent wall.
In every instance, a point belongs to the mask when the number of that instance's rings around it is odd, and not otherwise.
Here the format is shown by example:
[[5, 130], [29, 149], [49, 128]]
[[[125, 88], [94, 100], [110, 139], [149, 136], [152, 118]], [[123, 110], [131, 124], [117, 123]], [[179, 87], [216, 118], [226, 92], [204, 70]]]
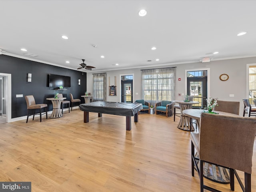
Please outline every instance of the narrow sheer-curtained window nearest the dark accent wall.
[[106, 101], [107, 100], [107, 74], [98, 73], [93, 74], [93, 100]]

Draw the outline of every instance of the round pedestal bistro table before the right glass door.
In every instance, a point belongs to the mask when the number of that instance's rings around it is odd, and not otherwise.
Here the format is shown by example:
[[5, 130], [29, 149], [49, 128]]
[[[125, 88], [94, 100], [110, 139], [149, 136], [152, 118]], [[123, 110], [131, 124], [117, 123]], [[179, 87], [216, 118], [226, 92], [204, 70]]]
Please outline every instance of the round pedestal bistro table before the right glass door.
[[[181, 100], [174, 100], [174, 103], [178, 103], [180, 105], [180, 122], [178, 123], [178, 128], [185, 131], [194, 131], [194, 128], [190, 127], [190, 118], [183, 115], [183, 110], [191, 109], [192, 105], [198, 104], [197, 101], [181, 101]], [[191, 129], [192, 128], [192, 129]]]

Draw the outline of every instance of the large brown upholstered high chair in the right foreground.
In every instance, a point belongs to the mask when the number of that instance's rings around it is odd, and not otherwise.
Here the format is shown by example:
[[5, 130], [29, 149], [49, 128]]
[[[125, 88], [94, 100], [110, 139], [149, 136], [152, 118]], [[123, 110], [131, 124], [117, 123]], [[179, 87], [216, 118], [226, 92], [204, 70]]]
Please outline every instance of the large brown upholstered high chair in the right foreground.
[[[245, 126], [246, 125], [246, 126]], [[230, 170], [230, 189], [234, 190], [234, 174], [244, 192], [251, 190], [252, 152], [256, 134], [254, 118], [202, 113], [198, 132], [190, 132], [192, 176], [194, 169], [200, 176], [201, 192], [204, 189], [220, 192], [204, 185], [204, 163]], [[196, 149], [198, 157], [195, 156]], [[199, 161], [199, 164], [197, 164]], [[236, 170], [244, 172], [244, 185]]]

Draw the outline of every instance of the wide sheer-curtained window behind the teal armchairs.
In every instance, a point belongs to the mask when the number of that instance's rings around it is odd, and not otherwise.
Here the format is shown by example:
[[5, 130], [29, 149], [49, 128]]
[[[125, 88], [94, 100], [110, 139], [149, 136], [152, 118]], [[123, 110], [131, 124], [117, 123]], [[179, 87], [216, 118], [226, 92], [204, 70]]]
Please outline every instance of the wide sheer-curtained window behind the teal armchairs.
[[173, 101], [176, 67], [142, 70], [142, 98], [150, 103]]

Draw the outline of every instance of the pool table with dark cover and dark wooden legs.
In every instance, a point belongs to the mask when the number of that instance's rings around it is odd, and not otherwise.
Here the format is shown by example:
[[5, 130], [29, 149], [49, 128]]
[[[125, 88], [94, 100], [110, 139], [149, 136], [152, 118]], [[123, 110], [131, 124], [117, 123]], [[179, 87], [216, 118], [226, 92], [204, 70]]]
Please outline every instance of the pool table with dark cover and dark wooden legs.
[[141, 103], [121, 103], [96, 101], [86, 104], [80, 104], [80, 110], [84, 111], [84, 123], [89, 122], [89, 112], [111, 115], [126, 116], [126, 130], [131, 130], [131, 117], [134, 116], [134, 122], [138, 122], [138, 112], [142, 109]]

